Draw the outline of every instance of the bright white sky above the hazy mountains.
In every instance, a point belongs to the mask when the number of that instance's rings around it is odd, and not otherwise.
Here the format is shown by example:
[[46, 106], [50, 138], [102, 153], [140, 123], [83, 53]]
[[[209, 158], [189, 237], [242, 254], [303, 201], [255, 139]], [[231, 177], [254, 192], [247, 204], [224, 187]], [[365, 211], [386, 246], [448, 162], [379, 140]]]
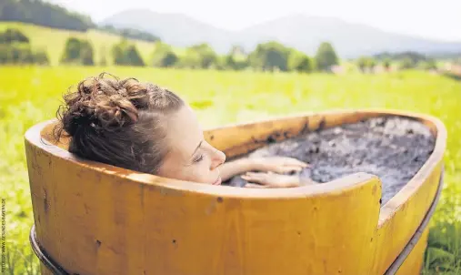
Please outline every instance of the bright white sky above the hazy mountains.
[[461, 0], [46, 0], [97, 23], [132, 8], [189, 15], [238, 30], [289, 14], [327, 16], [443, 41], [461, 41]]

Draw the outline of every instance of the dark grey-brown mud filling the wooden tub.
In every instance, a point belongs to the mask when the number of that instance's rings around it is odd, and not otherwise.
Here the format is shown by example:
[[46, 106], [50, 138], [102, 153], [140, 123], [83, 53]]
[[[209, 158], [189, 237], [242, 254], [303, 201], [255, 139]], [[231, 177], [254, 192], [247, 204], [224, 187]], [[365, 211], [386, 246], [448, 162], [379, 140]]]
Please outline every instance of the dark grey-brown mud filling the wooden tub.
[[[435, 144], [436, 138], [429, 128], [416, 120], [376, 117], [288, 138], [241, 157], [297, 158], [311, 168], [295, 175], [319, 183], [356, 172], [374, 174], [382, 180], [382, 204], [385, 204], [415, 176]], [[236, 176], [225, 184], [242, 187], [246, 180]]]

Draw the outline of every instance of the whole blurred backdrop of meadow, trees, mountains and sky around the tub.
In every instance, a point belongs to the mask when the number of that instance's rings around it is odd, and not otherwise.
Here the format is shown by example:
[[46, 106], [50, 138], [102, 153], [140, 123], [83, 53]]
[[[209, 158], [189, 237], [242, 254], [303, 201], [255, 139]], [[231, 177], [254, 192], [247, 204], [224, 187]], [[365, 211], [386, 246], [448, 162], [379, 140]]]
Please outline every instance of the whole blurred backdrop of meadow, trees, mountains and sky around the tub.
[[25, 130], [101, 72], [171, 88], [205, 127], [332, 108], [439, 117], [446, 187], [423, 273], [461, 274], [461, 1], [0, 0], [5, 274], [38, 274]]

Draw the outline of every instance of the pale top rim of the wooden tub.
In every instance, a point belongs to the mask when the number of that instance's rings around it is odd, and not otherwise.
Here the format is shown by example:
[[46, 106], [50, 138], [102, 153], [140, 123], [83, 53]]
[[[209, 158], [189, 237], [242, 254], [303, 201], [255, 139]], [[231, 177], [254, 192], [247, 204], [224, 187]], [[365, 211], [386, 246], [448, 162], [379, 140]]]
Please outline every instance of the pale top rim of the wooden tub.
[[[393, 214], [399, 209], [409, 198], [413, 196], [416, 190], [424, 183], [426, 178], [436, 169], [437, 165], [443, 159], [446, 149], [446, 127], [443, 122], [437, 117], [429, 116], [426, 114], [415, 113], [410, 111], [385, 109], [385, 108], [364, 108], [364, 109], [330, 109], [322, 112], [300, 112], [296, 114], [269, 117], [266, 119], [250, 120], [244, 123], [225, 124], [220, 127], [207, 127], [204, 132], [209, 130], [216, 130], [228, 127], [241, 127], [254, 125], [257, 123], [264, 123], [268, 121], [275, 121], [279, 119], [291, 119], [296, 117], [312, 117], [312, 116], [330, 116], [330, 115], [366, 115], [370, 117], [380, 116], [397, 116], [416, 119], [424, 123], [426, 126], [436, 129], [436, 145], [433, 153], [427, 158], [425, 164], [416, 172], [416, 175], [411, 178], [406, 185], [401, 188], [396, 195], [389, 199], [386, 204], [381, 206], [379, 214], [378, 228], [387, 219], [390, 219]], [[163, 191], [173, 192], [192, 192], [203, 195], [211, 195], [218, 197], [234, 197], [241, 199], [289, 199], [289, 198], [307, 198], [321, 194], [330, 194], [342, 192], [346, 189], [357, 188], [364, 185], [371, 179], [376, 178], [381, 186], [381, 180], [376, 175], [359, 172], [347, 175], [342, 178], [323, 183], [321, 185], [308, 185], [298, 188], [235, 188], [230, 186], [214, 186], [192, 181], [184, 181], [175, 178], [163, 178], [151, 174], [135, 172], [125, 168], [118, 168], [105, 163], [100, 163], [84, 158], [79, 158], [70, 153], [64, 148], [48, 142], [42, 136], [42, 130], [57, 121], [56, 118], [45, 120], [35, 124], [25, 132], [25, 142], [29, 145], [39, 148], [45, 154], [50, 154], [55, 158], [62, 158], [65, 161], [72, 162], [73, 165], [78, 165], [82, 168], [92, 169], [105, 174], [116, 175], [120, 178], [126, 178], [137, 184], [145, 185], [147, 187], [162, 188]], [[428, 125], [429, 124], [429, 125]], [[431, 130], [432, 131], [432, 130]], [[380, 190], [381, 191], [381, 190]]]

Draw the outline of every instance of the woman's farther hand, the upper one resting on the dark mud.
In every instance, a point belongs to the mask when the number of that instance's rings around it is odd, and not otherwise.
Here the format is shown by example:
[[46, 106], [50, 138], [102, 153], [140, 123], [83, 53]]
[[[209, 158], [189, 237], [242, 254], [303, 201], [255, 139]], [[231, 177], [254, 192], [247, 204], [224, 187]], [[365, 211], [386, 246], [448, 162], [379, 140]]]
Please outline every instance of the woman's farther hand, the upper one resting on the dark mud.
[[253, 168], [259, 171], [287, 173], [293, 171], [301, 171], [303, 168], [309, 167], [306, 162], [296, 158], [286, 157], [267, 157], [267, 158], [250, 158], [253, 162]]

